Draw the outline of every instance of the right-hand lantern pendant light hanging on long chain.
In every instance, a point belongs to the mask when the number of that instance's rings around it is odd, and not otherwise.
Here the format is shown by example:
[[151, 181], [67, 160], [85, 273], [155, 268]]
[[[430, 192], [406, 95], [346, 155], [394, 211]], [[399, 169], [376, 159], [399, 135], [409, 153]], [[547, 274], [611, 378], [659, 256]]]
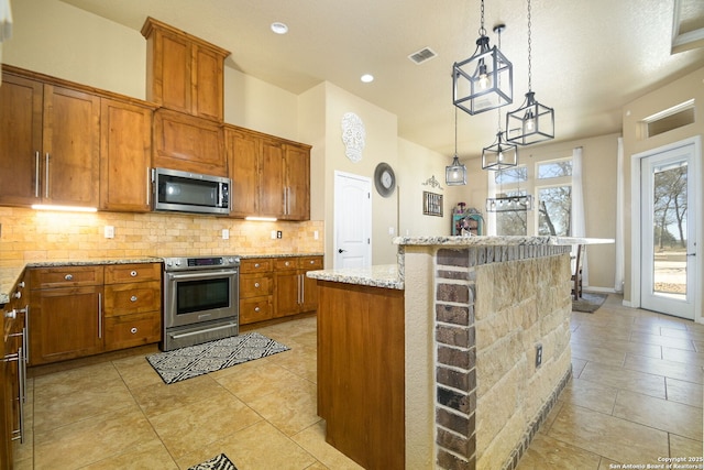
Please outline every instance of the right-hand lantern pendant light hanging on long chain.
[[530, 0], [528, 0], [528, 92], [520, 108], [506, 114], [506, 140], [518, 145], [530, 145], [554, 139], [554, 109], [536, 101], [536, 94], [532, 91], [530, 26]]

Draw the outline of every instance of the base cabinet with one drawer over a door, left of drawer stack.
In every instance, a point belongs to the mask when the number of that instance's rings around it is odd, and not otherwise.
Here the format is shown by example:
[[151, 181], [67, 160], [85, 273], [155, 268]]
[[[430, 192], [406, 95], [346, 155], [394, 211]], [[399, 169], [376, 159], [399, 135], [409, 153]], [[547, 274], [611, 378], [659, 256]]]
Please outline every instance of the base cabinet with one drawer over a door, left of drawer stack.
[[30, 269], [30, 365], [102, 351], [103, 266]]

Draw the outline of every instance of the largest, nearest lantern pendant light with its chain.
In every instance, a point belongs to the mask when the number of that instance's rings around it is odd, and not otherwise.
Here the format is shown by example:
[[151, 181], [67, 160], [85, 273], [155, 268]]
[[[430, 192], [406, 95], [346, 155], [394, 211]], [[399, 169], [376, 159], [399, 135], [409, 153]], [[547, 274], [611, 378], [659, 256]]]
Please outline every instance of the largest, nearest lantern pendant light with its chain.
[[[504, 28], [499, 24], [494, 32], [501, 33]], [[452, 66], [454, 106], [470, 114], [479, 114], [514, 101], [514, 67], [499, 48], [488, 45], [482, 0], [482, 25], [476, 50], [470, 58]]]

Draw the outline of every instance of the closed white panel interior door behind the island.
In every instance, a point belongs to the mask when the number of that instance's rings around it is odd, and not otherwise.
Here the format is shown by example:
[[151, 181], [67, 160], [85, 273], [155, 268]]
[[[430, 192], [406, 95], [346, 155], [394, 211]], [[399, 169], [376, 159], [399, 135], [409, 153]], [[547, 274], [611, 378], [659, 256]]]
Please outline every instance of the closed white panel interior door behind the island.
[[334, 173], [333, 267], [366, 267], [372, 262], [372, 181]]

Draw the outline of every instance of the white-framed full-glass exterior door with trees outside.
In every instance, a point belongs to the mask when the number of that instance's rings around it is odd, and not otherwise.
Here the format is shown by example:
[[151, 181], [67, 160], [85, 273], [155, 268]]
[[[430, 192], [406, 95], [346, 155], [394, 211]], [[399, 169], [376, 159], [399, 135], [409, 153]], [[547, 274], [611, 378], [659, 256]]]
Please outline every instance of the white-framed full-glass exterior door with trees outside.
[[694, 143], [640, 161], [640, 306], [694, 319], [697, 284]]

